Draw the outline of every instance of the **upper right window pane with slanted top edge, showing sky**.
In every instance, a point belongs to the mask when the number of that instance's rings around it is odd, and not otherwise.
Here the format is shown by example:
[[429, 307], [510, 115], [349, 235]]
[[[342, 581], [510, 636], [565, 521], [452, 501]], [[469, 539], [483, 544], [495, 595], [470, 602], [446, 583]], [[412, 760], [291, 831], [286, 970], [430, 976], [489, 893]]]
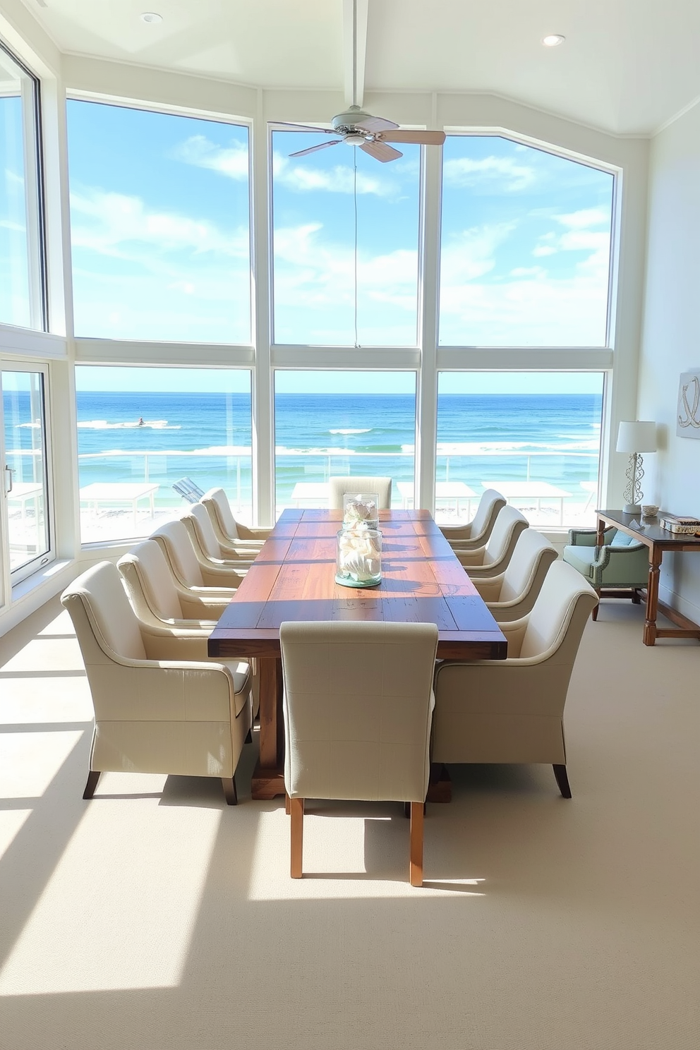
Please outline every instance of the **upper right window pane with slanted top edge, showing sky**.
[[613, 175], [495, 135], [443, 150], [441, 345], [606, 345]]

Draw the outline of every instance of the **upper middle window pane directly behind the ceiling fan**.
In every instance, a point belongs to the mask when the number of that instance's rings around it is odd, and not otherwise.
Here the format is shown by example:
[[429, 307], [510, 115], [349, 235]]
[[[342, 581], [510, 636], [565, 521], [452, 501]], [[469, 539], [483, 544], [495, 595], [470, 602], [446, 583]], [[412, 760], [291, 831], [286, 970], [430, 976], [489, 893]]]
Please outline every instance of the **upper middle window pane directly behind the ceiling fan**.
[[[420, 147], [389, 164], [274, 131], [274, 341], [415, 346]], [[357, 234], [357, 237], [356, 237]]]

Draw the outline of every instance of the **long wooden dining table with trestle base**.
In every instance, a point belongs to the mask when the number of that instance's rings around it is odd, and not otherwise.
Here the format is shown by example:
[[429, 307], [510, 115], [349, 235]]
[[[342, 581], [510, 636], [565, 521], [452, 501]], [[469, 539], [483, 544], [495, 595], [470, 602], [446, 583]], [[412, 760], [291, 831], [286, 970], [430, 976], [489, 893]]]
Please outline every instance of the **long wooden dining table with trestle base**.
[[260, 676], [260, 755], [254, 799], [284, 793], [284, 621], [361, 620], [438, 625], [439, 659], [503, 659], [507, 643], [427, 510], [381, 510], [382, 580], [336, 583], [341, 510], [288, 509], [209, 638], [209, 655], [255, 657]]

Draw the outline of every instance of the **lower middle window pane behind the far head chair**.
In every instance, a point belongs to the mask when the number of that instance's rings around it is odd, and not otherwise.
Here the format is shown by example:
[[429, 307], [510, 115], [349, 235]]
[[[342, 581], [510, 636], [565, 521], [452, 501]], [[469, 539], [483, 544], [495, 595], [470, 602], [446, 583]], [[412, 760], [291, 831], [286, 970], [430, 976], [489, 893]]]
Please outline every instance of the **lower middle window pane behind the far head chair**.
[[391, 505], [412, 496], [416, 376], [400, 372], [275, 373], [277, 514], [326, 507], [328, 478], [390, 477]]

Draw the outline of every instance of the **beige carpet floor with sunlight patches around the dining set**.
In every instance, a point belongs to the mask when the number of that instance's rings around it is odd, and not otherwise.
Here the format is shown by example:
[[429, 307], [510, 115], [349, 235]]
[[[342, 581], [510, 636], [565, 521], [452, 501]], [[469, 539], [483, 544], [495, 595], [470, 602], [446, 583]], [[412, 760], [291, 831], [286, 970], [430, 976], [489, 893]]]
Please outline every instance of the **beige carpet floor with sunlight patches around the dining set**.
[[103, 776], [51, 603], [0, 639], [3, 1050], [676, 1050], [700, 1045], [700, 646], [603, 603], [569, 777], [454, 768], [411, 889], [400, 805], [319, 803], [293, 882], [281, 799]]

